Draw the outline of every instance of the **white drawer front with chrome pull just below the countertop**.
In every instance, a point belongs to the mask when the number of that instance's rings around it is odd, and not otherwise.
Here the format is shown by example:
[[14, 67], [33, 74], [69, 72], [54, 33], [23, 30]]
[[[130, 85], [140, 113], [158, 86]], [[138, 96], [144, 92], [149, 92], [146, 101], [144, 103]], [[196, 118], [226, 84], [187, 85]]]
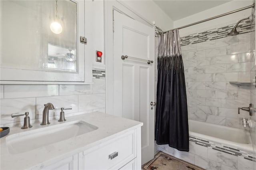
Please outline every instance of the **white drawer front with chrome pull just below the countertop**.
[[[121, 168], [124, 164], [130, 162], [136, 157], [135, 132], [128, 132], [100, 144], [91, 152], [84, 151], [83, 168], [86, 170], [106, 170]], [[110, 158], [110, 155], [113, 158]]]

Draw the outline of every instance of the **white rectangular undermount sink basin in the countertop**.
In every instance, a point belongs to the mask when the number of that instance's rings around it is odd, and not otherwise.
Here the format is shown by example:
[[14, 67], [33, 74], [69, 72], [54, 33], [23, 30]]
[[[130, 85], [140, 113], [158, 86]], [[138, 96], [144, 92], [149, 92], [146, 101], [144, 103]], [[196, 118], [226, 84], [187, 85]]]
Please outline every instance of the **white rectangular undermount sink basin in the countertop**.
[[98, 127], [84, 121], [73, 121], [12, 134], [6, 137], [6, 144], [10, 154], [18, 154], [79, 136], [96, 129]]

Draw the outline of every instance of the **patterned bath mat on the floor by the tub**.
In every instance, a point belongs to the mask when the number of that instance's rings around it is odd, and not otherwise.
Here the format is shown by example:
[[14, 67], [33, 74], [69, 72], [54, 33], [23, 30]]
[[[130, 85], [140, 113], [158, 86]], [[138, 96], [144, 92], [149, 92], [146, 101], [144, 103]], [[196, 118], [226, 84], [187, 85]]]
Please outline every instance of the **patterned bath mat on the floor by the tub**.
[[142, 170], [204, 170], [204, 169], [160, 151], [155, 155], [154, 159], [142, 165]]

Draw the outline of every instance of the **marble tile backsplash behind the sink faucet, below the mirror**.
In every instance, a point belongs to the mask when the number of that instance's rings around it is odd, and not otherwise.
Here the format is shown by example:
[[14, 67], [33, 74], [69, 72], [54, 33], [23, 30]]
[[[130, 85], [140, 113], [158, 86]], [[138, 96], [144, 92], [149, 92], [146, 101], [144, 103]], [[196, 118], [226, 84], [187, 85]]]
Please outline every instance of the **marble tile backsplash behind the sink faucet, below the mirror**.
[[0, 125], [22, 125], [23, 117], [12, 118], [13, 113], [29, 112], [31, 122], [42, 119], [44, 104], [55, 109], [49, 117], [58, 119], [61, 107], [72, 106], [65, 115], [76, 112], [105, 112], [105, 79], [93, 79], [93, 85], [0, 85]]

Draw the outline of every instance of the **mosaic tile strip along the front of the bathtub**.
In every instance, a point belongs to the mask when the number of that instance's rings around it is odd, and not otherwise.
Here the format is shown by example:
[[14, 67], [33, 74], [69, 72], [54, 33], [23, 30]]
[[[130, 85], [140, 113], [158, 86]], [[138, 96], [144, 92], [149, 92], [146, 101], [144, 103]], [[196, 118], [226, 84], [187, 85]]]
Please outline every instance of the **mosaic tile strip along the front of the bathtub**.
[[231, 154], [231, 155], [234, 155], [234, 156], [241, 156], [246, 160], [256, 162], [255, 158], [253, 158], [253, 153], [248, 151], [248, 150], [243, 150], [243, 149], [240, 149], [240, 148], [230, 147], [228, 145], [220, 144], [220, 143], [217, 143], [217, 142], [213, 142], [213, 141], [210, 141], [210, 140], [198, 138], [198, 137], [195, 137], [195, 136], [189, 136], [189, 141], [194, 142], [195, 144], [198, 144], [200, 146], [208, 147], [208, 148], [218, 150], [220, 152], [224, 152], [224, 153]]

